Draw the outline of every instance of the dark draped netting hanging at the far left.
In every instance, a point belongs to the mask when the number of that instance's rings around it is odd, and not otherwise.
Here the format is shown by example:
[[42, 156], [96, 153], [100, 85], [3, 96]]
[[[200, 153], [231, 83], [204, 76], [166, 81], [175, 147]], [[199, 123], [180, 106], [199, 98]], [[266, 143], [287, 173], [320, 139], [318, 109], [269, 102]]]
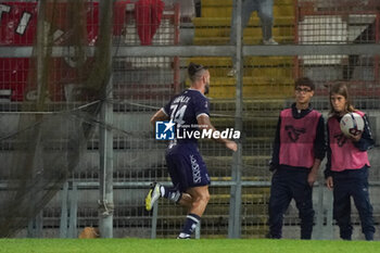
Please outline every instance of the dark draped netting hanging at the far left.
[[[110, 76], [111, 33], [105, 31], [112, 4], [104, 5], [101, 17], [99, 4], [85, 1], [1, 7], [1, 43], [31, 46], [30, 58], [1, 59], [1, 89], [20, 101], [11, 131], [1, 137], [9, 151], [1, 169], [8, 189], [1, 200], [1, 236], [10, 237], [42, 211], [83, 159]], [[88, 45], [96, 46], [91, 59], [85, 53]], [[61, 58], [53, 55], [55, 46], [65, 51]], [[72, 101], [77, 102], [74, 109]], [[2, 115], [2, 125], [7, 117]]]

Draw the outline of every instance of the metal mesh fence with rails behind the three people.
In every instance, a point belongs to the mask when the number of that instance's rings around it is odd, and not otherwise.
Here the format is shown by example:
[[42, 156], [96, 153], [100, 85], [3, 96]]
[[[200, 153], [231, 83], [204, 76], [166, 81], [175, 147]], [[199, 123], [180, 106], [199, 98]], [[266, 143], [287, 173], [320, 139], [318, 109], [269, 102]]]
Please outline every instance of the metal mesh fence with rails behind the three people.
[[[3, 39], [10, 25], [5, 23], [11, 13], [8, 7], [22, 3], [26, 2], [0, 3], [0, 138], [13, 132], [20, 115], [25, 113], [21, 103], [25, 76], [31, 71], [27, 63], [31, 42]], [[211, 201], [202, 217], [201, 238], [264, 238], [267, 235], [271, 142], [280, 110], [292, 102], [296, 77], [308, 76], [315, 80], [313, 105], [324, 115], [329, 106], [328, 87], [338, 79], [346, 80], [355, 105], [368, 114], [375, 138], [380, 142], [380, 11], [377, 1], [275, 0], [273, 31], [278, 46], [262, 45], [257, 13], [252, 14], [245, 29], [239, 26], [239, 17], [237, 27], [230, 27], [231, 12], [241, 10], [240, 0], [202, 0], [201, 14], [191, 21], [180, 16], [180, 4], [166, 4], [160, 23], [145, 24], [139, 24], [136, 16], [137, 3], [116, 1], [118, 9], [114, 9], [114, 14], [122, 13], [122, 18], [114, 20], [114, 28], [118, 27], [115, 29], [119, 31], [113, 36], [112, 96], [106, 101], [112, 105], [106, 114], [112, 115], [113, 137], [105, 144], [113, 155], [112, 237], [175, 238], [183, 223], [186, 211], [179, 206], [160, 200], [150, 213], [144, 210], [143, 200], [151, 181], [169, 184], [164, 160], [166, 143], [154, 139], [149, 119], [170, 97], [189, 85], [186, 74], [189, 62], [210, 68], [211, 114], [215, 127], [235, 127], [243, 132], [240, 152], [233, 156], [218, 143], [200, 141], [213, 181]], [[27, 4], [37, 13], [37, 1]], [[94, 17], [90, 20], [93, 22]], [[34, 22], [36, 25], [37, 21]], [[139, 34], [139, 29], [142, 33], [150, 27], [156, 30], [148, 37]], [[230, 45], [229, 35], [233, 28], [237, 38], [242, 35], [242, 40]], [[228, 77], [233, 65], [238, 74]], [[12, 76], [16, 72], [24, 73], [24, 77]], [[75, 85], [69, 81], [58, 85], [63, 88], [56, 91], [58, 99], [50, 106], [52, 112], [80, 106]], [[102, 121], [104, 118], [100, 118]], [[73, 130], [64, 127], [55, 129], [68, 134]], [[102, 124], [94, 129], [79, 164], [61, 192], [16, 237], [75, 238], [84, 227], [100, 226], [104, 213], [104, 206], [100, 206], [104, 203], [99, 202], [100, 185], [104, 184], [100, 159], [105, 155], [102, 153], [105, 140], [101, 138], [100, 128]], [[12, 144], [12, 141], [0, 141], [4, 170], [11, 169]], [[378, 226], [378, 146], [369, 156], [372, 165], [370, 193]], [[10, 190], [7, 179], [7, 173], [2, 174], [1, 194]], [[313, 237], [338, 239], [331, 193], [324, 187], [322, 173], [313, 199], [316, 211]], [[353, 222], [355, 238], [362, 239], [355, 212]], [[299, 230], [297, 211], [292, 203], [284, 219], [284, 238], [297, 239]]]

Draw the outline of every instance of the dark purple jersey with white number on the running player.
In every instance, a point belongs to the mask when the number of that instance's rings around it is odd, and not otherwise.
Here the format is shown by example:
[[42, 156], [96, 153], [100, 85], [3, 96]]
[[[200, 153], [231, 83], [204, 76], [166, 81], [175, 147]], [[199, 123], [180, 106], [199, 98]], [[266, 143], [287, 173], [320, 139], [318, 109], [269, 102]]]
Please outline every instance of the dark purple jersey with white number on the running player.
[[[176, 129], [191, 132], [198, 130], [197, 117], [208, 113], [208, 99], [200, 91], [187, 89], [182, 93], [174, 97], [164, 107], [164, 113], [176, 123]], [[183, 138], [185, 137], [185, 138]], [[197, 139], [182, 136], [177, 138], [177, 143], [197, 143]]]

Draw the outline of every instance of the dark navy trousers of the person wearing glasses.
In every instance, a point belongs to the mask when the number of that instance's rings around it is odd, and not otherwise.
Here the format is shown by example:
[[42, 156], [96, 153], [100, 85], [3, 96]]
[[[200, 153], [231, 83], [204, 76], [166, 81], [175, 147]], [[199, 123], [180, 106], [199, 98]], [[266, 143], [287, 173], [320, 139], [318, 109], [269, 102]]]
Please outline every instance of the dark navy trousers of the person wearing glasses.
[[269, 198], [269, 233], [282, 237], [282, 220], [292, 199], [301, 218], [301, 239], [311, 239], [314, 223], [312, 187], [307, 182], [306, 169], [277, 169], [271, 178]]

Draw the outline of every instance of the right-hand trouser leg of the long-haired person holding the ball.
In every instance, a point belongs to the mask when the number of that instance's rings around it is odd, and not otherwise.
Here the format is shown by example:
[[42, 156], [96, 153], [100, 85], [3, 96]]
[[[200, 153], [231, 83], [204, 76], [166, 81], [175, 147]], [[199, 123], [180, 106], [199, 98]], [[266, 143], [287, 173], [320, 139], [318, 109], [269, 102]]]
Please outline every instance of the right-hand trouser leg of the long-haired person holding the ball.
[[356, 184], [353, 185], [352, 197], [355, 202], [357, 212], [359, 213], [362, 222], [362, 231], [367, 241], [373, 240], [375, 226], [373, 226], [373, 208], [369, 201], [368, 193], [368, 169], [360, 169], [357, 172]]

